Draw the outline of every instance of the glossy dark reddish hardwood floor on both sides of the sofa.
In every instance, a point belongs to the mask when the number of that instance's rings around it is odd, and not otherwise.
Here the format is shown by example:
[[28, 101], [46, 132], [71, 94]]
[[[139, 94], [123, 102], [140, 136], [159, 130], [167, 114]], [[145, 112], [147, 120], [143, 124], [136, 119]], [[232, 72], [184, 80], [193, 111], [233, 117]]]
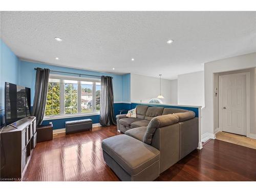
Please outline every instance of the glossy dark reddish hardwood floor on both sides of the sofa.
[[[61, 134], [37, 143], [24, 174], [28, 181], [119, 181], [105, 165], [101, 141], [119, 135], [116, 126]], [[210, 140], [167, 169], [156, 181], [256, 181], [256, 150]]]

